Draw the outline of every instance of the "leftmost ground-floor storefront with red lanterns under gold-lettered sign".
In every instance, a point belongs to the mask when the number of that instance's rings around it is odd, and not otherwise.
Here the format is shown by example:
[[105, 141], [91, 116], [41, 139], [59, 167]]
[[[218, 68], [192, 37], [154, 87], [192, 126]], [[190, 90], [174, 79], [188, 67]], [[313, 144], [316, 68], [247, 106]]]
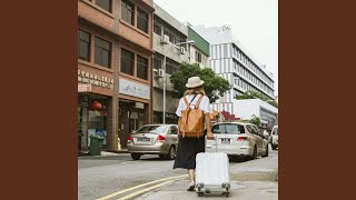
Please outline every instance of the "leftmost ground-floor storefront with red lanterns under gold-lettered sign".
[[105, 138], [107, 144], [109, 102], [112, 101], [113, 80], [108, 72], [99, 70], [78, 69], [78, 149], [88, 150], [90, 136]]

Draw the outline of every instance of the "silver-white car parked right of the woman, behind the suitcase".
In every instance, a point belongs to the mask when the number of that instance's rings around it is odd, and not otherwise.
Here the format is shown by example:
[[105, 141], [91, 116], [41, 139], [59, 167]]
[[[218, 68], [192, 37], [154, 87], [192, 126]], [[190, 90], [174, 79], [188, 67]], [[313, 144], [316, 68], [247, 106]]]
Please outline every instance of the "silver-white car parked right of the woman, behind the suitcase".
[[220, 122], [211, 127], [215, 140], [207, 140], [207, 151], [226, 152], [228, 156], [268, 157], [268, 141], [253, 123]]

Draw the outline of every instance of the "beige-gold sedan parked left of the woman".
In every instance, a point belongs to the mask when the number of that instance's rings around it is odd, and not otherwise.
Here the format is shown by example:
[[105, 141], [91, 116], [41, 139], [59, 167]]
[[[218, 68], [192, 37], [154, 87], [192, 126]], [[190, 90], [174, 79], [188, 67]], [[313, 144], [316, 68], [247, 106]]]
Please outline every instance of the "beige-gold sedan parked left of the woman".
[[127, 149], [134, 160], [142, 154], [159, 154], [174, 160], [178, 147], [177, 124], [146, 124], [128, 138]]

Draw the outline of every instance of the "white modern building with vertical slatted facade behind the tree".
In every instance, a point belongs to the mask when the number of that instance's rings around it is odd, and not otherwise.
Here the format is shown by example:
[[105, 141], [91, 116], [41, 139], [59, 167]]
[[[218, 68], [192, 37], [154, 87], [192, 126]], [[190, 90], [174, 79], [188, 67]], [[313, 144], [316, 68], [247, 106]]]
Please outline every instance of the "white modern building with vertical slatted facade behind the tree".
[[[196, 26], [191, 28], [210, 43], [210, 67], [212, 70], [233, 86], [233, 89], [224, 98], [212, 104], [214, 110], [225, 110], [241, 118], [243, 111], [239, 110], [236, 96], [249, 90], [259, 91], [275, 99], [273, 74], [267, 71], [265, 64], [259, 63], [233, 37], [228, 26], [212, 28]], [[258, 117], [261, 118], [260, 114]], [[275, 121], [277, 123], [277, 120]]]

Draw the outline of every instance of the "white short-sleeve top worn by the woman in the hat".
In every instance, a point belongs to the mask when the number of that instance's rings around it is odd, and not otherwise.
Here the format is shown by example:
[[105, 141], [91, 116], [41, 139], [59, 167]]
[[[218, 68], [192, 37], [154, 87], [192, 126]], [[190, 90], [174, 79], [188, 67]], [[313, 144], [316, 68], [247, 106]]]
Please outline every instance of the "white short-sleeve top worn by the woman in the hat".
[[[186, 97], [187, 97], [187, 100], [188, 100], [188, 103], [192, 100], [194, 96], [195, 96], [195, 94], [186, 96]], [[197, 97], [191, 101], [190, 106], [195, 106], [195, 104], [198, 102], [200, 96], [201, 96], [201, 94], [197, 94]], [[184, 98], [181, 98], [181, 99], [179, 100], [179, 104], [178, 104], [176, 114], [177, 114], [178, 117], [181, 117], [181, 111], [182, 111], [182, 110], [186, 110], [186, 109], [187, 109], [187, 104], [186, 104]], [[199, 110], [202, 110], [205, 113], [211, 113], [211, 112], [212, 112], [212, 110], [211, 110], [211, 108], [210, 108], [210, 100], [209, 100], [209, 98], [208, 98], [207, 96], [204, 96], [204, 97], [202, 97], [198, 109], [199, 109]]]

